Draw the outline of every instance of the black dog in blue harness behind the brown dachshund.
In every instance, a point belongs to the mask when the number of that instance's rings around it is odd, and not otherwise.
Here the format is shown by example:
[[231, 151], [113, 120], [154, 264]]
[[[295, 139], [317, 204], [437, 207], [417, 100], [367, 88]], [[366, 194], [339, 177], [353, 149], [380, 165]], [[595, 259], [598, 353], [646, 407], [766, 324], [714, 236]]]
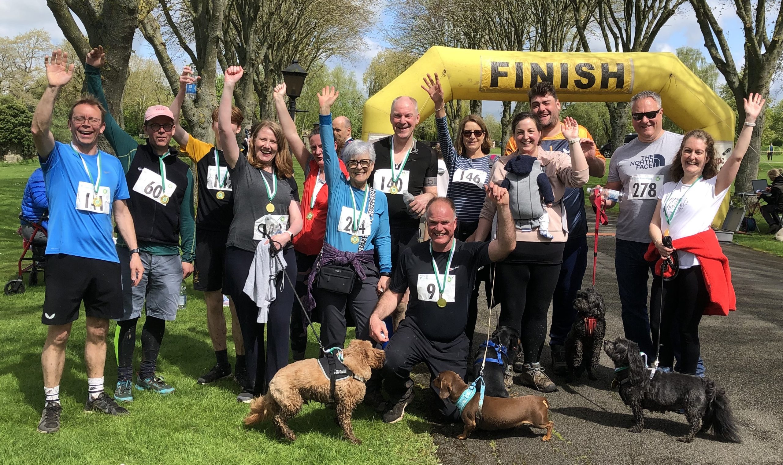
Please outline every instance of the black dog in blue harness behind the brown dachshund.
[[519, 350], [519, 333], [511, 326], [503, 326], [495, 330], [489, 339], [489, 347], [486, 342], [478, 346], [473, 359], [473, 379], [478, 377], [484, 360], [486, 349], [487, 361], [484, 365], [484, 395], [489, 397], [508, 397], [508, 387], [513, 382], [512, 377], [506, 376], [509, 363], [514, 360]]

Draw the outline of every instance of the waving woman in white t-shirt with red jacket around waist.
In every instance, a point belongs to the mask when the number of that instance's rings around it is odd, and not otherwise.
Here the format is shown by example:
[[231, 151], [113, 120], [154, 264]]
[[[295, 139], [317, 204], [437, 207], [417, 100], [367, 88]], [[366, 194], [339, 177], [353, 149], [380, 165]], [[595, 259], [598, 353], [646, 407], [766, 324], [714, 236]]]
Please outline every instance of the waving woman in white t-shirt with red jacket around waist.
[[[675, 345], [679, 345], [678, 371], [695, 374], [699, 357], [698, 324], [717, 295], [710, 295], [705, 276], [715, 272], [702, 268], [695, 253], [675, 250], [686, 247], [689, 238], [709, 231], [710, 224], [720, 208], [734, 177], [737, 176], [742, 158], [748, 150], [756, 118], [764, 105], [761, 95], [751, 94], [745, 99], [745, 123], [731, 156], [718, 168], [719, 159], [712, 136], [700, 129], [685, 134], [680, 151], [672, 163], [672, 182], [663, 185], [659, 192], [658, 206], [650, 223], [650, 237], [661, 258], [677, 254], [679, 271], [671, 281], [666, 281], [662, 292], [662, 280], [657, 274], [653, 279], [651, 302], [651, 329], [654, 346], [660, 329], [660, 366], [673, 367]], [[670, 236], [675, 245], [668, 248], [663, 238]], [[703, 238], [698, 238], [703, 241]], [[720, 255], [720, 245], [714, 234], [708, 238], [711, 255]], [[714, 243], [713, 243], [714, 241]], [[703, 246], [702, 246], [703, 247]], [[697, 247], [690, 248], [698, 250]], [[715, 250], [718, 249], [718, 250]], [[725, 259], [725, 257], [723, 257]], [[720, 270], [718, 270], [720, 274]], [[731, 281], [729, 281], [731, 285]], [[713, 290], [718, 293], [725, 290]], [[721, 295], [723, 297], [723, 295]], [[662, 314], [661, 299], [663, 299]], [[679, 344], [677, 343], [679, 339]]]

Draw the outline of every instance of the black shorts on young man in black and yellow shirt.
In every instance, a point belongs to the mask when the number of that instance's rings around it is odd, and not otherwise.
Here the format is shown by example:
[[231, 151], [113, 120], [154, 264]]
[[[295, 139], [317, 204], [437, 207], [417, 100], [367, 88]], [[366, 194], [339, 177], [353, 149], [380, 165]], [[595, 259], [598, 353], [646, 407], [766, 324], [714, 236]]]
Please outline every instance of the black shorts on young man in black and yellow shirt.
[[223, 288], [226, 242], [229, 231], [196, 231], [196, 261], [193, 262], [193, 289], [202, 292]]

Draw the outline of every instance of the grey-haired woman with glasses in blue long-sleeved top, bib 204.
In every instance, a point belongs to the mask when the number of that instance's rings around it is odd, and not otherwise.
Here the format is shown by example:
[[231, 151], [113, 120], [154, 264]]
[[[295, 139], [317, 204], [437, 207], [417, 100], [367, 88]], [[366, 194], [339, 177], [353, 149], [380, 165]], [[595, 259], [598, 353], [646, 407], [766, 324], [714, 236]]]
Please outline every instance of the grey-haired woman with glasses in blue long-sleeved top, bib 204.
[[[326, 349], [345, 345], [346, 309], [356, 323], [356, 338], [370, 340], [370, 314], [391, 275], [386, 196], [367, 184], [373, 172], [375, 151], [372, 144], [364, 141], [352, 141], [347, 145], [342, 156], [350, 179], [345, 179], [334, 151], [332, 132], [331, 106], [337, 95], [334, 88], [323, 88], [318, 95], [323, 170], [329, 186], [329, 200], [323, 250], [316, 259], [316, 266], [312, 267], [308, 282], [315, 298], [314, 305], [321, 315], [321, 341]], [[330, 265], [347, 265], [355, 270], [356, 281], [350, 293], [319, 288], [316, 274], [320, 268]], [[313, 281], [316, 281], [315, 286]], [[312, 309], [312, 299], [307, 305]]]

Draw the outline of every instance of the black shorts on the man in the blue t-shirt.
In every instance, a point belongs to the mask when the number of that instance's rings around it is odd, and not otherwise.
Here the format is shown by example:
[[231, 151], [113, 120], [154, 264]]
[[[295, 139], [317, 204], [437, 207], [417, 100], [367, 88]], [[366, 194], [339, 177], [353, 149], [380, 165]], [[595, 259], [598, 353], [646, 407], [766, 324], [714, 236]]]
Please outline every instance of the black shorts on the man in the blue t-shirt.
[[85, 302], [88, 317], [117, 320], [124, 313], [120, 263], [64, 253], [46, 256], [43, 324], [78, 320]]

